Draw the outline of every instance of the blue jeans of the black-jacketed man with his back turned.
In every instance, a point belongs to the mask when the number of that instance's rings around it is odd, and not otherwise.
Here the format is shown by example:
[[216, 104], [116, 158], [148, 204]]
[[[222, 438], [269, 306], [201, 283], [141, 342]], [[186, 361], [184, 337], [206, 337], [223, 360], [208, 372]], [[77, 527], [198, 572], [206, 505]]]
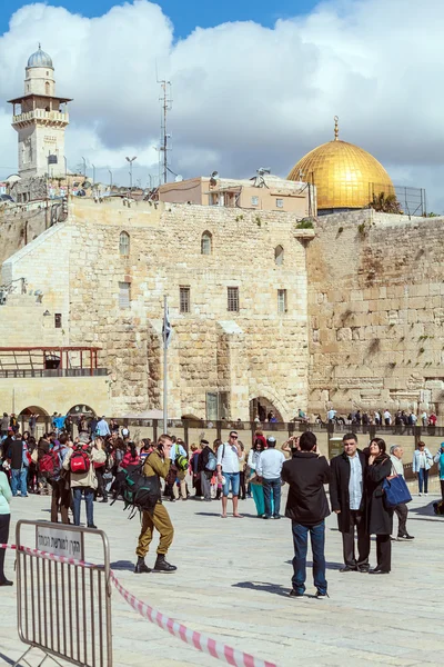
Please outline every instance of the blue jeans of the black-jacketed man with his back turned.
[[294, 545], [294, 558], [293, 558], [293, 577], [292, 585], [293, 589], [300, 594], [305, 591], [305, 579], [306, 579], [306, 549], [309, 542], [309, 532], [312, 542], [313, 551], [313, 580], [314, 586], [317, 588], [321, 595], [326, 593], [326, 579], [325, 579], [325, 521], [316, 524], [315, 526], [302, 526], [296, 521], [292, 521], [293, 530], [293, 545]]

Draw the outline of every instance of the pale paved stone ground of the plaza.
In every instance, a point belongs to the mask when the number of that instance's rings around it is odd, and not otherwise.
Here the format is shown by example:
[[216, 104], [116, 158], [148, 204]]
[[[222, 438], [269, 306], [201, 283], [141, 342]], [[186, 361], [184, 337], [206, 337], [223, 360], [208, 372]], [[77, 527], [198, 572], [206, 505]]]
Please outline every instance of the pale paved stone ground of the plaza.
[[[313, 597], [311, 574], [307, 595], [287, 597], [290, 522], [256, 519], [252, 500], [241, 502], [245, 518], [226, 520], [219, 517], [216, 501], [168, 502], [175, 526], [170, 559], [180, 569], [164, 576], [132, 574], [137, 518], [129, 521], [120, 505], [99, 504], [94, 509], [97, 525], [108, 532], [111, 560], [123, 586], [190, 628], [282, 667], [309, 660], [313, 666], [410, 667], [443, 665], [444, 519], [433, 516], [433, 499], [414, 498], [407, 526], [415, 540], [393, 542], [393, 571], [384, 577], [339, 573], [341, 536], [335, 517], [329, 517], [331, 597], [324, 600]], [[13, 520], [48, 519], [48, 498], [14, 498]], [[372, 564], [374, 551], [373, 542]], [[153, 558], [149, 556], [149, 564]], [[7, 574], [16, 578], [11, 552]], [[0, 665], [13, 665], [23, 651], [17, 636], [14, 590], [0, 589]], [[218, 664], [141, 619], [115, 590], [112, 610], [115, 666]]]

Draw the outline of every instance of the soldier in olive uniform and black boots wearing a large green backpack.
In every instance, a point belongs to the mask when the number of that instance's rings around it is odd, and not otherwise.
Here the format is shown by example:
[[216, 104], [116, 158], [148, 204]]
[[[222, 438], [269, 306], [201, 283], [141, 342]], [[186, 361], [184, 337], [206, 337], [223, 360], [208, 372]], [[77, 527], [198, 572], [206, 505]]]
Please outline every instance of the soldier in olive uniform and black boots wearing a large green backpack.
[[[157, 448], [145, 459], [143, 475], [147, 475], [148, 477], [157, 475], [163, 479], [167, 477], [171, 466], [171, 446], [172, 440], [170, 436], [163, 435], [159, 438]], [[145, 565], [145, 556], [153, 538], [154, 528], [160, 532], [160, 540], [158, 547], [158, 558], [152, 571], [173, 573], [178, 569], [174, 565], [170, 565], [170, 563], [167, 563], [165, 560], [168, 549], [173, 541], [174, 529], [165, 506], [162, 505], [162, 500], [159, 498], [153, 512], [142, 512], [142, 530], [139, 537], [138, 548], [135, 550], [135, 554], [138, 555], [138, 563], [135, 564], [134, 569], [135, 574], [140, 575], [142, 573], [151, 571]]]

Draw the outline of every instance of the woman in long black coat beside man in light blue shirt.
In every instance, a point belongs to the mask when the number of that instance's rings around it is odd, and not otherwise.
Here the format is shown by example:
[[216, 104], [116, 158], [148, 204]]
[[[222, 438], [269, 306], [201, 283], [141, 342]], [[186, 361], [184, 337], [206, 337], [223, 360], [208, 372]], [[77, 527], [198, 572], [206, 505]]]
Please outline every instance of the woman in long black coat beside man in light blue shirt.
[[387, 575], [392, 566], [390, 536], [393, 529], [393, 509], [385, 507], [383, 491], [384, 479], [392, 472], [392, 461], [385, 450], [384, 440], [374, 438], [369, 447], [369, 466], [365, 470], [369, 534], [376, 536], [377, 565], [370, 570], [371, 575]]

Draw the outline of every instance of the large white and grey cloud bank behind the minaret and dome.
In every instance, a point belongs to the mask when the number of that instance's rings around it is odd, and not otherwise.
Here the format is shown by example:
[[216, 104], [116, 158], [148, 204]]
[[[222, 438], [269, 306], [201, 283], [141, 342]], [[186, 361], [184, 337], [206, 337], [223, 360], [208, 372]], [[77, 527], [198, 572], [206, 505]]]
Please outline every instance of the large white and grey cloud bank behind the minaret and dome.
[[157, 173], [159, 74], [173, 82], [171, 167], [183, 176], [218, 169], [249, 176], [259, 166], [285, 175], [307, 150], [341, 137], [370, 150], [394, 180], [427, 188], [444, 209], [441, 156], [444, 66], [441, 0], [332, 0], [273, 29], [232, 22], [174, 41], [161, 9], [138, 0], [87, 19], [28, 4], [0, 38], [0, 173], [16, 165], [16, 136], [3, 100], [20, 94], [38, 41], [56, 67], [57, 90], [73, 97], [69, 165], [84, 156], [99, 177], [128, 182]]

